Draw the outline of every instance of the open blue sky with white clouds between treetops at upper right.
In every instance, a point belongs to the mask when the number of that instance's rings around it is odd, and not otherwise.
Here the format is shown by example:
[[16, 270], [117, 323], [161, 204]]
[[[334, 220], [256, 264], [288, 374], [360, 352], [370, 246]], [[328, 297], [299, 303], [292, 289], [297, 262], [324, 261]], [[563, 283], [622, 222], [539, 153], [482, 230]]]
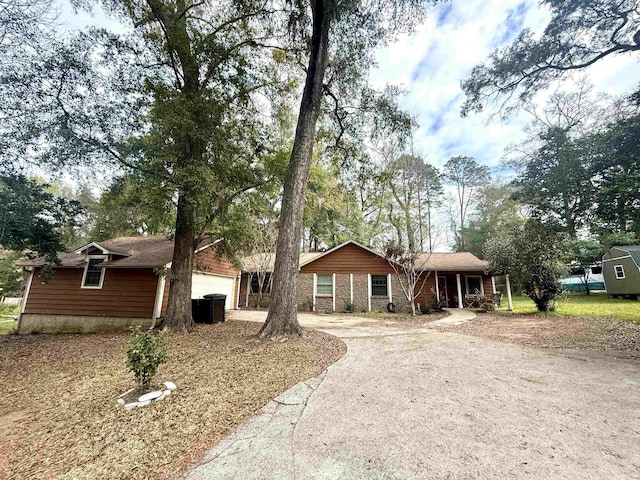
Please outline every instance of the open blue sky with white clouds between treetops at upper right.
[[[494, 168], [505, 147], [524, 138], [531, 121], [523, 112], [506, 122], [489, 122], [495, 107], [468, 118], [460, 117], [464, 95], [460, 81], [485, 61], [495, 48], [509, 45], [525, 27], [541, 32], [549, 14], [535, 1], [466, 0], [433, 7], [427, 21], [411, 35], [378, 52], [378, 67], [370, 79], [382, 88], [391, 83], [407, 90], [403, 107], [418, 119], [414, 148], [427, 161], [442, 166], [450, 157], [468, 155]], [[635, 57], [607, 58], [588, 70], [596, 90], [618, 96], [634, 89], [640, 80]], [[572, 89], [572, 80], [562, 88]], [[549, 92], [537, 102], [543, 104]]]

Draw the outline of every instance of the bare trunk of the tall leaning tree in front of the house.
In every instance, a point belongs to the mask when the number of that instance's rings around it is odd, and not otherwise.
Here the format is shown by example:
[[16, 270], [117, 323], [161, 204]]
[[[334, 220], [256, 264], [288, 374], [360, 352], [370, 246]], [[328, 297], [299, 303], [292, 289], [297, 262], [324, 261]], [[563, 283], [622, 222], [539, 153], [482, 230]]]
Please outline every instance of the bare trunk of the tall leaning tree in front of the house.
[[333, 20], [330, 1], [312, 0], [313, 34], [311, 54], [300, 103], [291, 159], [284, 184], [280, 232], [273, 269], [271, 302], [267, 320], [260, 329], [261, 338], [300, 335], [296, 298], [297, 275], [302, 239], [304, 197], [311, 167], [316, 123], [320, 114], [322, 84], [327, 68], [329, 29]]

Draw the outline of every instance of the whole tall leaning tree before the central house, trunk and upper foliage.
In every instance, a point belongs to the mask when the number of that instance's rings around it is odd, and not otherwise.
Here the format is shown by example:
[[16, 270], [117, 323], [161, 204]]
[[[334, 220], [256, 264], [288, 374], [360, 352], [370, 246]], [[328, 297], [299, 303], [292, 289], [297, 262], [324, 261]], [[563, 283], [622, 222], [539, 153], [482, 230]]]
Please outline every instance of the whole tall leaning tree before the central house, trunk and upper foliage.
[[[304, 197], [323, 93], [329, 93], [334, 103], [343, 102], [354, 84], [365, 81], [373, 63], [373, 49], [397, 32], [411, 28], [421, 18], [426, 3], [310, 0], [309, 6], [297, 4], [300, 9], [296, 23], [308, 38], [309, 56], [282, 199], [271, 303], [261, 337], [300, 334], [296, 274]], [[334, 105], [333, 111], [339, 123], [347, 113], [339, 105]]]

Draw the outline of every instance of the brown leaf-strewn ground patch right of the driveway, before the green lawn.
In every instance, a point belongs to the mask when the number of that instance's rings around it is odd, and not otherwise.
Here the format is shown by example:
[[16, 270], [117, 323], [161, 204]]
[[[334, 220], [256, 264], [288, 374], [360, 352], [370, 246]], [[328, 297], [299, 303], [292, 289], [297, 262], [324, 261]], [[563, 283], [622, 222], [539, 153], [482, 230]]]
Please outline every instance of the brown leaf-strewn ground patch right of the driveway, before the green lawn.
[[615, 351], [640, 358], [640, 325], [613, 318], [478, 314], [447, 330], [527, 347]]

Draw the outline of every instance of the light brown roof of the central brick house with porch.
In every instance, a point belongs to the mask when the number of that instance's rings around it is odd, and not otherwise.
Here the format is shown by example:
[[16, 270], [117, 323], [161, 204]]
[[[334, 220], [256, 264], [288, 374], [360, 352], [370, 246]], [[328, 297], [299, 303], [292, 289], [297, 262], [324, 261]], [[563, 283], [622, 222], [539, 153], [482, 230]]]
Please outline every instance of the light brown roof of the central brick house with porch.
[[[354, 240], [348, 240], [337, 247], [326, 252], [302, 252], [300, 253], [299, 267], [302, 268], [316, 260], [327, 255], [331, 255], [336, 250], [346, 245], [356, 245], [363, 250], [376, 255], [384, 260], [386, 257]], [[272, 272], [275, 263], [275, 253], [273, 254], [257, 254], [242, 259], [245, 272], [256, 272], [259, 267], [265, 268], [266, 272]], [[489, 270], [489, 262], [480, 260], [471, 252], [452, 252], [452, 253], [421, 253], [416, 261], [416, 266], [421, 270], [441, 270], [441, 271], [461, 271], [461, 272], [485, 272]]]

